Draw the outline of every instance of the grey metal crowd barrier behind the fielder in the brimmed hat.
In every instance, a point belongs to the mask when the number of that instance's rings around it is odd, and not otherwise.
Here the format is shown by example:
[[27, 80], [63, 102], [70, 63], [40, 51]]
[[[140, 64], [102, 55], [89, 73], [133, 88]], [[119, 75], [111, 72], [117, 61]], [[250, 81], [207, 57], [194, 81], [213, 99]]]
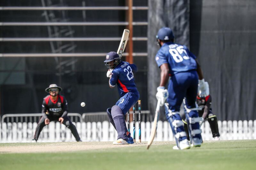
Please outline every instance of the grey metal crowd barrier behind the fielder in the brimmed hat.
[[[2, 116], [2, 124], [4, 122], [39, 122], [42, 113], [25, 113], [25, 114], [5, 114]], [[79, 113], [68, 113], [71, 122], [82, 122], [82, 115]], [[6, 120], [5, 120], [6, 119]]]

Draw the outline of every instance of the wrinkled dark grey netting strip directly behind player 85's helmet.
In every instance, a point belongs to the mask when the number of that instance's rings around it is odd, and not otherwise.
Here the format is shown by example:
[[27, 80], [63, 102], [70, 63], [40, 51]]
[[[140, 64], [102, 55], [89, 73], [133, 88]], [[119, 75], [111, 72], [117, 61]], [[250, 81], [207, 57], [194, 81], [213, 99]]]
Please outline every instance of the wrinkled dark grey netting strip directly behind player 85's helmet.
[[[160, 82], [160, 69], [155, 61], [159, 49], [156, 34], [161, 27], [170, 27], [175, 42], [189, 47], [189, 0], [148, 0], [148, 8], [148, 108], [154, 115], [156, 88]], [[160, 119], [164, 119], [164, 114]]]

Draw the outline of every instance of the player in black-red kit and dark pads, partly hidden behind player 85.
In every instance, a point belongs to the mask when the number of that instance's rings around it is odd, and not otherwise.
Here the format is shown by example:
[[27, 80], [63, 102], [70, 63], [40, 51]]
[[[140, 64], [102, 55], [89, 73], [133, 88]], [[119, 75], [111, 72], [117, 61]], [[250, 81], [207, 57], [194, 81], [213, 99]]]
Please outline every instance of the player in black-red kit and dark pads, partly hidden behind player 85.
[[[199, 94], [197, 94], [196, 103], [199, 107], [202, 108], [202, 110], [198, 111], [199, 116], [203, 118], [203, 122], [208, 120], [208, 122], [210, 124], [210, 128], [212, 131], [212, 137], [214, 138], [214, 140], [220, 140], [218, 119], [217, 119], [217, 116], [213, 115], [213, 113], [212, 113], [212, 108], [211, 108], [212, 97], [211, 97], [211, 95], [208, 95], [206, 97], [200, 97]], [[201, 122], [201, 124], [203, 122]]]

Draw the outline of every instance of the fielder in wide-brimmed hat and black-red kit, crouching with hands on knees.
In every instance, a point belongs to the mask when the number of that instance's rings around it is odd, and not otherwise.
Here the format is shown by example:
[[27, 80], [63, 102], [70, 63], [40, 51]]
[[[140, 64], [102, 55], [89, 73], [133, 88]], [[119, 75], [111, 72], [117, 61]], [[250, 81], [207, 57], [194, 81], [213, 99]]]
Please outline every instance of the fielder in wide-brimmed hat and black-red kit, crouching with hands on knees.
[[49, 124], [51, 121], [59, 121], [68, 127], [77, 142], [81, 142], [81, 139], [77, 133], [75, 125], [68, 118], [68, 103], [64, 96], [59, 95], [61, 87], [56, 84], [51, 84], [48, 88], [45, 89], [50, 95], [47, 95], [42, 104], [42, 114], [34, 136], [34, 141], [37, 141], [40, 132], [45, 125]]

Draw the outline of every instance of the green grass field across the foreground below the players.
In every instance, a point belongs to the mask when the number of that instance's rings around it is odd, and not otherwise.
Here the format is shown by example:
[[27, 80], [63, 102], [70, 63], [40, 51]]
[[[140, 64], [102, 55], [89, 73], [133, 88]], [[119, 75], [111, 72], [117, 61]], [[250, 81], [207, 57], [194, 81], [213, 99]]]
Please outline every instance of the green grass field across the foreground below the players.
[[[50, 145], [52, 143], [41, 143]], [[8, 143], [6, 146], [41, 145], [40, 143]], [[86, 142], [83, 142], [86, 144]], [[110, 145], [111, 143], [109, 143]], [[73, 143], [74, 145], [74, 143]], [[133, 144], [128, 147], [84, 150], [76, 152], [0, 154], [0, 169], [225, 169], [247, 170], [256, 167], [256, 140], [204, 142], [200, 148], [172, 150], [174, 143]], [[68, 147], [68, 146], [67, 146]]]

